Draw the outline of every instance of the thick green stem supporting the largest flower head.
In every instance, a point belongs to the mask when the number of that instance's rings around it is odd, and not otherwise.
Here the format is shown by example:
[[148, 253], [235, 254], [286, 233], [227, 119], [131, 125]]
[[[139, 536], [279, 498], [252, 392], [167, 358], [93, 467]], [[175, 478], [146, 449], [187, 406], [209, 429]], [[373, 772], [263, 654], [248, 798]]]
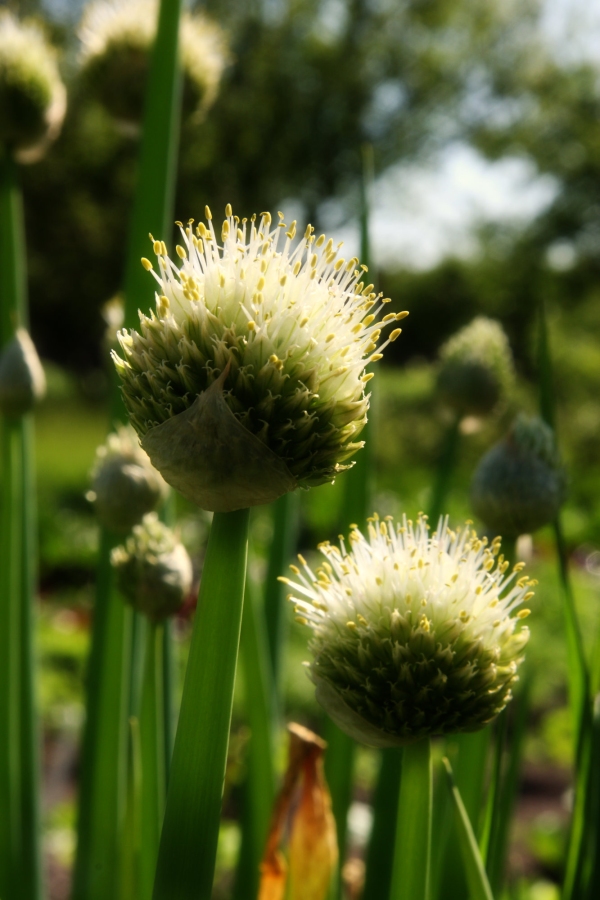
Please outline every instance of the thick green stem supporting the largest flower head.
[[215, 513], [175, 737], [154, 900], [209, 900], [240, 640], [248, 510]]

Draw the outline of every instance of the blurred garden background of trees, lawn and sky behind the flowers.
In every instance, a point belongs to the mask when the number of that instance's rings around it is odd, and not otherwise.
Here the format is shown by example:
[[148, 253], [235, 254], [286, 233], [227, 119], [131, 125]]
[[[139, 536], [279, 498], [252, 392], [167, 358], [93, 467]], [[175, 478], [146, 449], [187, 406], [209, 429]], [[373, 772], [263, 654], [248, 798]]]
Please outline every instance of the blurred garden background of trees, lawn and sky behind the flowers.
[[[78, 72], [79, 0], [3, 3], [45, 22], [69, 91], [62, 134], [23, 168], [31, 326], [49, 381], [37, 415], [47, 851], [55, 900], [73, 851], [77, 740], [94, 589], [97, 525], [85, 499], [110, 424], [105, 304], [124, 269], [139, 149]], [[193, 6], [193, 4], [190, 4]], [[208, 0], [231, 52], [218, 97], [184, 116], [176, 218], [281, 209], [359, 246], [362, 148], [372, 147], [372, 256], [392, 309], [410, 310], [374, 382], [373, 459], [382, 514], [426, 508], [446, 413], [436, 354], [475, 315], [500, 320], [515, 355], [514, 397], [466, 435], [448, 512], [470, 514], [482, 453], [518, 409], [534, 411], [535, 316], [547, 303], [558, 439], [569, 471], [564, 525], [584, 632], [600, 602], [600, 10], [584, 0]], [[166, 235], [169, 239], [172, 236]], [[340, 483], [303, 495], [301, 546], [335, 537]], [[179, 508], [201, 567], [207, 519]], [[270, 519], [254, 522], [256, 560]], [[526, 547], [522, 548], [527, 550]], [[529, 548], [540, 579], [529, 657], [534, 713], [511, 877], [553, 896], [560, 879], [572, 736], [551, 538]], [[189, 612], [189, 611], [188, 611]], [[188, 624], [178, 625], [181, 661]], [[292, 626], [287, 704], [317, 724]], [[235, 854], [243, 775], [244, 685], [232, 742], [221, 884]], [[373, 758], [359, 758], [351, 829], [364, 842]], [[544, 893], [546, 891], [546, 893]], [[532, 896], [527, 894], [527, 896]]]

